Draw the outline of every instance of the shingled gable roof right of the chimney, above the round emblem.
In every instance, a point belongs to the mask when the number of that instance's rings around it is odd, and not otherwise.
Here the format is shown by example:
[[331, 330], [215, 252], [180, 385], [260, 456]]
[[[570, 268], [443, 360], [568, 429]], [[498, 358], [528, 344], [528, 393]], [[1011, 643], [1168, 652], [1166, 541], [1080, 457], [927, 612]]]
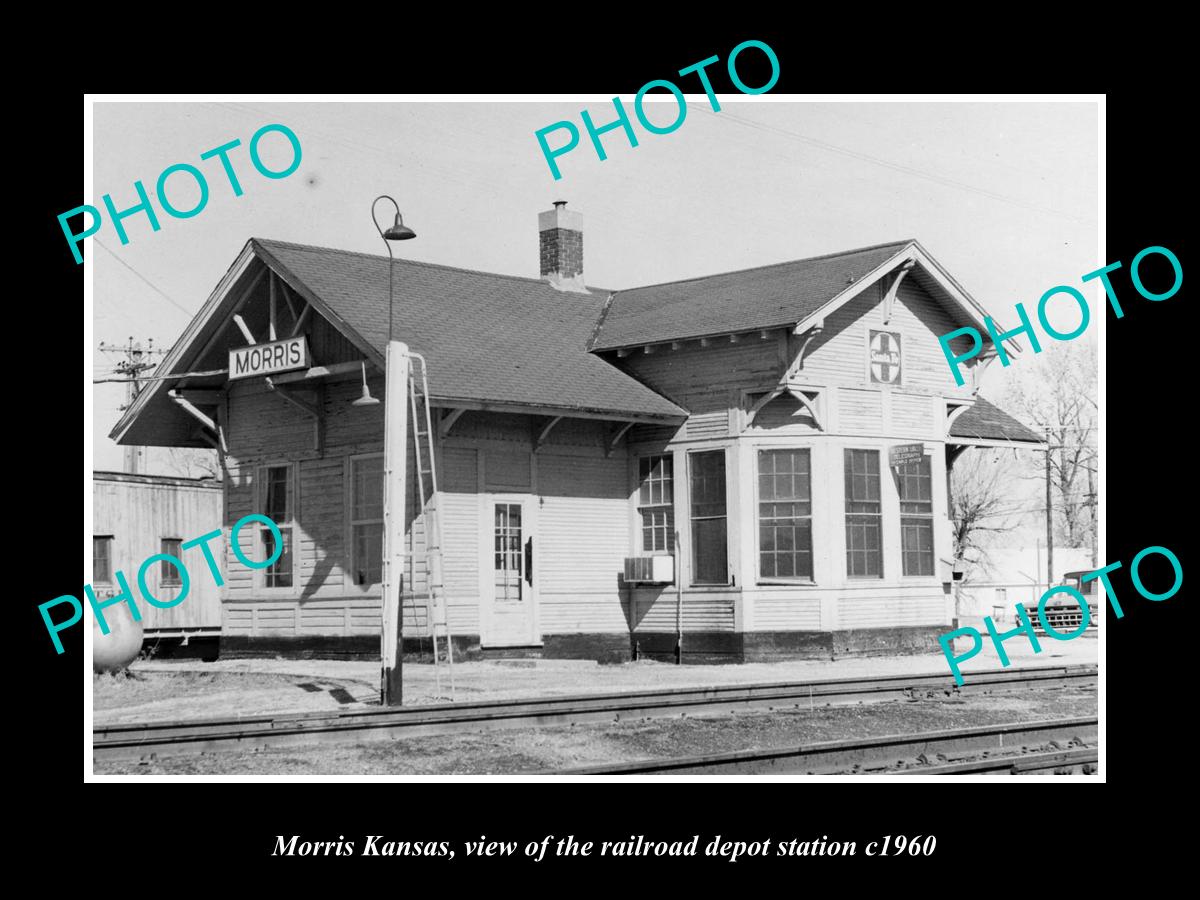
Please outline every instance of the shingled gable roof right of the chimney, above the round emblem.
[[[913, 280], [983, 328], [983, 307], [916, 240], [616, 292], [589, 349], [796, 326], [830, 312], [905, 259]], [[1015, 342], [1007, 342], [1020, 352]]]

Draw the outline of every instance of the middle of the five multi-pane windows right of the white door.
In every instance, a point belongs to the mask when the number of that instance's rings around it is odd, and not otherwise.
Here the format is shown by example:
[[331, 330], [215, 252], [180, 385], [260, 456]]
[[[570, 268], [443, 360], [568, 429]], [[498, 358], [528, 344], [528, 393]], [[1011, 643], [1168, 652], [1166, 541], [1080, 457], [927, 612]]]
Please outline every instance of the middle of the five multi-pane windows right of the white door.
[[758, 576], [812, 577], [812, 479], [808, 450], [758, 451]]

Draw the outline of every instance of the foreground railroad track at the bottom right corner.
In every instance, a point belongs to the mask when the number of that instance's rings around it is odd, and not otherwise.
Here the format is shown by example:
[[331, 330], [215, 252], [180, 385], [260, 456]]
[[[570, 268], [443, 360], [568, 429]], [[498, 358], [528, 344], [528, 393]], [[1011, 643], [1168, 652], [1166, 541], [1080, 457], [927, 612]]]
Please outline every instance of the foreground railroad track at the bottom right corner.
[[[1097, 762], [1096, 718], [1007, 722], [972, 728], [828, 740], [673, 760], [640, 760], [544, 772], [544, 775], [965, 775], [1030, 774]], [[1092, 744], [1092, 745], [1090, 745]], [[1020, 752], [1014, 754], [1013, 751]], [[935, 762], [950, 755], [962, 762]], [[998, 754], [998, 755], [996, 755]], [[898, 768], [906, 761], [904, 768]]]

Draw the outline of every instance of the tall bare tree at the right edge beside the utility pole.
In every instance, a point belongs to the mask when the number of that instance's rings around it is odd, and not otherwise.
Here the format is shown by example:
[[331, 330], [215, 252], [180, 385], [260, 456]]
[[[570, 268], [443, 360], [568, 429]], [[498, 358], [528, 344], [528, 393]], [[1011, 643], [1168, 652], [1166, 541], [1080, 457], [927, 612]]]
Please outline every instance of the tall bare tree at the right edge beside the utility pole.
[[[1055, 542], [1093, 547], [1097, 538], [1094, 473], [1097, 468], [1096, 344], [1076, 341], [1048, 347], [1037, 368], [1012, 382], [1006, 403], [1019, 418], [1034, 422], [1050, 442]], [[1028, 460], [1025, 478], [1045, 478], [1046, 457]], [[1094, 562], [1094, 560], [1093, 560]]]

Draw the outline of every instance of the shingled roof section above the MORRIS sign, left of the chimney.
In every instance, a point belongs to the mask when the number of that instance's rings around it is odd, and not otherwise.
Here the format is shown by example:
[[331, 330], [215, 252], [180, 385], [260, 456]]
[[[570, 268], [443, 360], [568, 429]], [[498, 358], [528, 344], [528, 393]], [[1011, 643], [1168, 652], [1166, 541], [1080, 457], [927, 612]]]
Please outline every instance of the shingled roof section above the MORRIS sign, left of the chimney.
[[[252, 238], [230, 269], [246, 271], [253, 257], [270, 266], [305, 299], [313, 301], [364, 354], [382, 366], [388, 331], [388, 259], [326, 247]], [[186, 372], [198, 344], [221, 324], [233, 280], [226, 276], [205, 307], [164, 360], [163, 372]], [[679, 422], [685, 410], [640, 382], [587, 353], [588, 337], [607, 292], [556, 290], [536, 278], [395, 262], [394, 334], [428, 362], [434, 402], [456, 401], [494, 408], [539, 408], [563, 415]], [[212, 319], [212, 320], [210, 320]], [[150, 442], [142, 410], [176, 415], [163, 406], [167, 382], [151, 388], [113, 428], [121, 442]], [[180, 414], [181, 415], [181, 414]], [[187, 422], [186, 416], [181, 419]], [[181, 427], [181, 426], [179, 426]], [[179, 427], [160, 422], [173, 444]], [[191, 425], [188, 425], [191, 427]], [[128, 433], [128, 437], [126, 434]]]

